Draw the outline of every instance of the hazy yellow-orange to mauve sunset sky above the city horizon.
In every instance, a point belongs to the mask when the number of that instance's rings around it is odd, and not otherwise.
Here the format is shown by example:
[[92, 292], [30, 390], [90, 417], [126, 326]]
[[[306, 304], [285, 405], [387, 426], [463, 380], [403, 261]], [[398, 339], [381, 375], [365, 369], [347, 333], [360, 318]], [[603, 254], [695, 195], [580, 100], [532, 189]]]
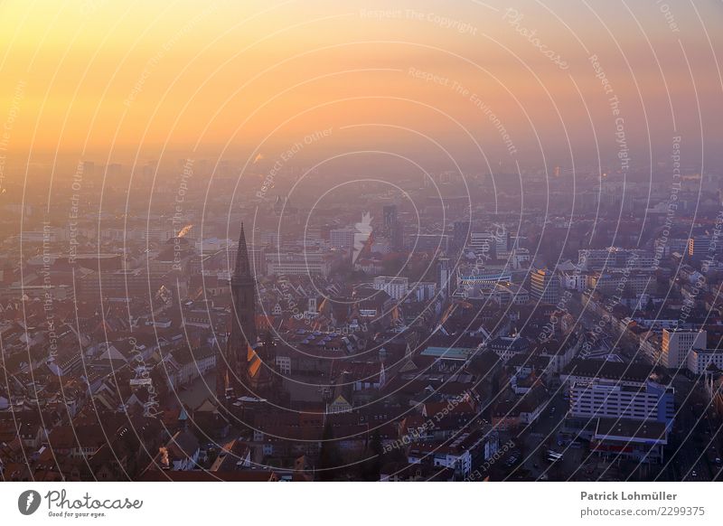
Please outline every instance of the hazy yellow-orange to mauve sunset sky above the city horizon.
[[541, 161], [615, 155], [622, 127], [636, 162], [676, 134], [693, 162], [721, 146], [722, 25], [712, 0], [11, 0], [0, 146], [273, 156], [331, 129], [306, 153]]

